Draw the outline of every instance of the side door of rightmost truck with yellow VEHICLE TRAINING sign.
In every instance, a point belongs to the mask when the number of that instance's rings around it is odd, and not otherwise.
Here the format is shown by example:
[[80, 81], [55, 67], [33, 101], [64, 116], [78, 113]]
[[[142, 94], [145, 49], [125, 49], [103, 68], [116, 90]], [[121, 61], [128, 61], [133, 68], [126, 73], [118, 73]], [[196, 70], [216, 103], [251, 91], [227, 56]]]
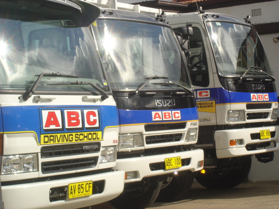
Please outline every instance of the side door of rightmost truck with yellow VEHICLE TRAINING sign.
[[189, 37], [191, 54], [188, 63], [190, 64], [190, 77], [196, 92], [200, 126], [216, 125], [214, 74], [208, 45], [200, 24], [192, 23], [192, 28], [193, 36]]

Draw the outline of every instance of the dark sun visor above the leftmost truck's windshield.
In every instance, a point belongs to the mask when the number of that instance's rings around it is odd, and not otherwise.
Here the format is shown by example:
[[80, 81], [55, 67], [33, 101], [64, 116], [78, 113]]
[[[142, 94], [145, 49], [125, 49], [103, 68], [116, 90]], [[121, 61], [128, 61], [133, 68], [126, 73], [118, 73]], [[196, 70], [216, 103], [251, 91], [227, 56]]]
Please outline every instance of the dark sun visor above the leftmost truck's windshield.
[[25, 22], [70, 20], [70, 27], [88, 27], [100, 12], [94, 4], [80, 0], [0, 0], [0, 18]]

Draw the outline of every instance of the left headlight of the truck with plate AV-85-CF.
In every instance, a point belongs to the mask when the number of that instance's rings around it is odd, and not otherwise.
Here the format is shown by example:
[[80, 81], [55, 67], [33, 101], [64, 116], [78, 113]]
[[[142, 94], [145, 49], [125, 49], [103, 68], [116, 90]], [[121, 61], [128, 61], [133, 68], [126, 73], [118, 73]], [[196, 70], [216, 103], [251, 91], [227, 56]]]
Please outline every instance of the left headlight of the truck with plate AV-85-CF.
[[2, 156], [1, 174], [38, 171], [37, 154]]

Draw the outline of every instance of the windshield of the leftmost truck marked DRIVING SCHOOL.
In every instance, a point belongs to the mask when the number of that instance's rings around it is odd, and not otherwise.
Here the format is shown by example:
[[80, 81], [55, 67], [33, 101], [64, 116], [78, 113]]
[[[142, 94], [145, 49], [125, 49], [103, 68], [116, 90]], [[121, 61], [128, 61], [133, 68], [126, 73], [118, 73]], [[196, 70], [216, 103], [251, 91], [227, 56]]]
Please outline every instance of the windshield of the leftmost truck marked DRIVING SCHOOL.
[[[87, 28], [76, 28], [71, 20], [0, 19], [0, 26], [0, 91], [29, 90], [42, 73], [46, 75], [36, 92], [96, 92], [85, 82], [108, 91], [100, 58]], [[71, 76], [49, 76], [52, 73]], [[84, 82], [83, 85], [69, 85], [77, 80]]]

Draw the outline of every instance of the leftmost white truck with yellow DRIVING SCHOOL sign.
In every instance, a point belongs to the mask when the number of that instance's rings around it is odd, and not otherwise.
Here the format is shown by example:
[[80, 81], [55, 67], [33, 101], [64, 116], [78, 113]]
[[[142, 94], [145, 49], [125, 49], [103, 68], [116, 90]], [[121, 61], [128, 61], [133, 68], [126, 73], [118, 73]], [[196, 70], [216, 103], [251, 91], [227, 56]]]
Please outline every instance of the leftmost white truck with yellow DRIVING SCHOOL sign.
[[74, 209], [117, 197], [118, 113], [85, 1], [0, 1], [3, 209]]

